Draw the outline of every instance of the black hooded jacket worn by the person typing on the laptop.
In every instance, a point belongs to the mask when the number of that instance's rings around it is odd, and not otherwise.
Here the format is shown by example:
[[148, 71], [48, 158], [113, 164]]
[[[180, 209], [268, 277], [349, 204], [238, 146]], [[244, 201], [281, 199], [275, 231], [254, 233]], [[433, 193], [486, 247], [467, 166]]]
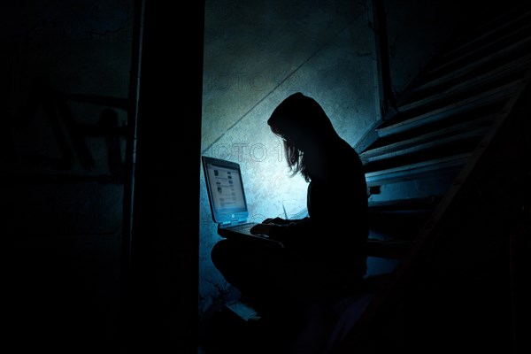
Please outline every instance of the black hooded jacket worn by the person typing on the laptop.
[[365, 274], [367, 190], [358, 153], [322, 107], [301, 93], [282, 101], [267, 123], [302, 151], [309, 181], [308, 217], [274, 226], [270, 236], [312, 261]]

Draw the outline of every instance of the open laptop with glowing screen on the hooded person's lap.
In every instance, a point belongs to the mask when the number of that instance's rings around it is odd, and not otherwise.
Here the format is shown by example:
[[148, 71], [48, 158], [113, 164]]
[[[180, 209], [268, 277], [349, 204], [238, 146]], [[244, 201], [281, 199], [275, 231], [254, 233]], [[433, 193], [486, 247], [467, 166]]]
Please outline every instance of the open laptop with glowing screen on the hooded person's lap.
[[201, 159], [212, 219], [218, 224], [218, 235], [267, 242], [283, 248], [281, 242], [274, 241], [267, 235], [250, 233], [250, 228], [257, 223], [248, 220], [249, 210], [240, 165], [220, 158], [202, 156]]

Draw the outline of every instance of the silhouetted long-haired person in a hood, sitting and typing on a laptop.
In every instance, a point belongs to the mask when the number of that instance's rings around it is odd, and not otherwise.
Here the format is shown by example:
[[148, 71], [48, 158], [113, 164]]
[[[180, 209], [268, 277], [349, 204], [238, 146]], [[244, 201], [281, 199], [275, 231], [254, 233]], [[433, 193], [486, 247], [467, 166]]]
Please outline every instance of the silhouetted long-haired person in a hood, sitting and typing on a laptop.
[[253, 230], [275, 249], [221, 240], [212, 262], [261, 316], [298, 316], [315, 302], [358, 291], [366, 273], [367, 190], [358, 153], [311, 97], [288, 96], [267, 120], [281, 137], [292, 175], [307, 181], [308, 216], [265, 219]]

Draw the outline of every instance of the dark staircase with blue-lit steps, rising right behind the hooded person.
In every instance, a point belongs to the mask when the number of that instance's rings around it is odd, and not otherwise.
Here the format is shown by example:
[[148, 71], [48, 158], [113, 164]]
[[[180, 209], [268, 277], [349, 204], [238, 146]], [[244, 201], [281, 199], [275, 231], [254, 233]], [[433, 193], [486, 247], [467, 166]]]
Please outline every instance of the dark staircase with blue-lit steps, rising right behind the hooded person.
[[397, 263], [337, 352], [529, 348], [530, 79], [527, 2], [449, 42], [365, 142], [370, 256]]

